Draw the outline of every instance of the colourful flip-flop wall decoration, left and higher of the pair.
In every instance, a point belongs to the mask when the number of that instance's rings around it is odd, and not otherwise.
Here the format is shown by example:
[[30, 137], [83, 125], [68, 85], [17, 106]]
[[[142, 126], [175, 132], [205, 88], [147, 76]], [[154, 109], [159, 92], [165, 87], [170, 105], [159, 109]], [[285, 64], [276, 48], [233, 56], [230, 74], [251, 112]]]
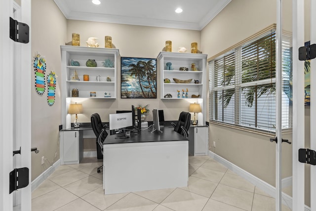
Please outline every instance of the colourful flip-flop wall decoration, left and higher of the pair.
[[45, 91], [46, 60], [38, 53], [34, 58], [35, 89], [38, 94]]

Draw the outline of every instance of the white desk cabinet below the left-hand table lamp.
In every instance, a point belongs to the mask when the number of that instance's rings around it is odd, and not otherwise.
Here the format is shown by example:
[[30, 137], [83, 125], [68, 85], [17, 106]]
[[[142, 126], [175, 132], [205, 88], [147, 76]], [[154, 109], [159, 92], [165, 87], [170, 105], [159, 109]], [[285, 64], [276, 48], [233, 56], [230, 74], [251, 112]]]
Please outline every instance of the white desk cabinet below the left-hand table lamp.
[[60, 131], [60, 165], [79, 164], [83, 158], [83, 131]]

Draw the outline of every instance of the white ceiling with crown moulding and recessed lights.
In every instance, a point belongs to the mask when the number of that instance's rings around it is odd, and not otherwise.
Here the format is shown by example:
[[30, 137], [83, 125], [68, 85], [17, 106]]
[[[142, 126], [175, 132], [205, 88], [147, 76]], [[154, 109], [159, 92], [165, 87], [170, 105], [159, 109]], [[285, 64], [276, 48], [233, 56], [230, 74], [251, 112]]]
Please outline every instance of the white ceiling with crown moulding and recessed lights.
[[[67, 19], [201, 30], [231, 0], [54, 0]], [[182, 13], [175, 13], [181, 7]]]

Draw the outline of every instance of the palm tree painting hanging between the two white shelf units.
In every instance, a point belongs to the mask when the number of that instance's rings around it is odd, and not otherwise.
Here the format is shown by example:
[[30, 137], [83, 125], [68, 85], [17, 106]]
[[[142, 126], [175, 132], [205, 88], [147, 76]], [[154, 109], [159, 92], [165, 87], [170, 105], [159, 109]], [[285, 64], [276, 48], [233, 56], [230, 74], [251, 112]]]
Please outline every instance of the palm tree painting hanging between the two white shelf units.
[[157, 60], [121, 57], [121, 98], [157, 98]]

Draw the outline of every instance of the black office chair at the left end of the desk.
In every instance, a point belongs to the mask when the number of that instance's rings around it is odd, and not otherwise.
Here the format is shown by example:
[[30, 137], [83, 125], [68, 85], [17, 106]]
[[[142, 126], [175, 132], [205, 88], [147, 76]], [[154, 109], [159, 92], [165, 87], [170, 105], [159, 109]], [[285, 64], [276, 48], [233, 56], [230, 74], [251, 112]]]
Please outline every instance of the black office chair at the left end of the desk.
[[[103, 159], [103, 141], [108, 136], [107, 131], [105, 128], [107, 125], [103, 126], [101, 122], [100, 115], [94, 113], [91, 115], [91, 126], [93, 129], [94, 134], [97, 136], [96, 138], [96, 145], [97, 145], [97, 158]], [[98, 173], [101, 172], [103, 166], [98, 168]]]

